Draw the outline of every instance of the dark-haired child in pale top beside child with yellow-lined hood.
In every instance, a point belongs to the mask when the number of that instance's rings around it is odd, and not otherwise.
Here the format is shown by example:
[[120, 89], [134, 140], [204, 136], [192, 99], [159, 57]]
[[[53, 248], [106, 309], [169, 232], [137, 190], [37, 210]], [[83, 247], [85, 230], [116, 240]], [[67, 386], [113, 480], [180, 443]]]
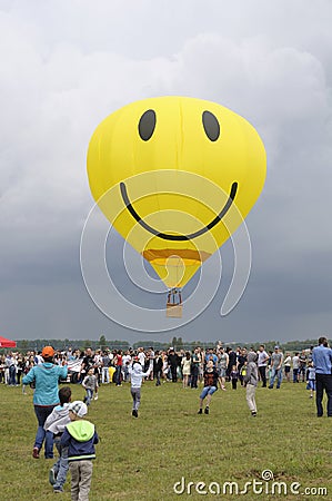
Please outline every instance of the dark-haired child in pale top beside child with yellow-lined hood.
[[44, 429], [47, 434], [51, 433], [56, 448], [59, 452], [58, 461], [49, 472], [49, 481], [53, 485], [54, 493], [63, 492], [63, 485], [68, 473], [68, 448], [61, 445], [61, 436], [64, 426], [70, 423], [69, 403], [71, 401], [71, 389], [63, 386], [59, 390], [60, 405], [57, 405], [48, 416]]

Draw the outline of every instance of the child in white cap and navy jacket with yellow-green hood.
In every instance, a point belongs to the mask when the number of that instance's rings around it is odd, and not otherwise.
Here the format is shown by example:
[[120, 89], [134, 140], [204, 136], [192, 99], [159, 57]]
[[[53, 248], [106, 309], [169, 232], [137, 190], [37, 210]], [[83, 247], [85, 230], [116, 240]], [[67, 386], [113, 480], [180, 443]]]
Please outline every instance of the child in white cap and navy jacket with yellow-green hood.
[[99, 436], [94, 424], [83, 418], [88, 413], [84, 402], [77, 400], [69, 405], [70, 423], [64, 428], [61, 446], [68, 448], [68, 463], [71, 474], [71, 500], [89, 501], [92, 480], [94, 445]]

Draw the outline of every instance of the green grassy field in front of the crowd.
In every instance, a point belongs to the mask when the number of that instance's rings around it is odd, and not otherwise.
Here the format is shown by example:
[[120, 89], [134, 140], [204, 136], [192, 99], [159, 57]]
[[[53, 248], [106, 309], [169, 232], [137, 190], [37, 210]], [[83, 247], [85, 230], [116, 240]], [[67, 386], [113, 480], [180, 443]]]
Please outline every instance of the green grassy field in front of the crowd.
[[[72, 385], [72, 400], [83, 397], [80, 385]], [[101, 438], [90, 500], [332, 499], [332, 420], [315, 416], [305, 384], [259, 387], [255, 419], [242, 387], [219, 390], [209, 415], [197, 414], [199, 392], [183, 390], [181, 383], [155, 387], [147, 382], [134, 419], [128, 383], [102, 386], [88, 418]], [[53, 499], [48, 482], [53, 461], [31, 456], [37, 430], [32, 390], [22, 395], [21, 387], [1, 384], [0, 399], [1, 500]], [[262, 480], [264, 470], [273, 473], [275, 484]], [[225, 482], [234, 482], [232, 492]], [[247, 492], [240, 493], [245, 482]], [[322, 488], [325, 495], [319, 493]], [[61, 495], [70, 500], [69, 479]]]

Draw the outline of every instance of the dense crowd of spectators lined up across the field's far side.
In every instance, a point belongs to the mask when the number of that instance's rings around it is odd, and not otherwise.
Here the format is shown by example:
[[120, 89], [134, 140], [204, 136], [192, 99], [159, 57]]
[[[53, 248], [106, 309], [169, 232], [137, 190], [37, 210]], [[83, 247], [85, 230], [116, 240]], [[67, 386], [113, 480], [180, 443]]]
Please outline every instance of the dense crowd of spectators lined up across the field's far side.
[[[258, 350], [238, 346], [223, 347], [217, 345], [211, 348], [197, 346], [193, 351], [175, 351], [170, 347], [167, 351], [154, 351], [139, 347], [137, 350], [95, 350], [91, 347], [84, 351], [72, 350], [54, 351], [53, 361], [58, 365], [68, 364], [71, 382], [82, 383], [88, 375], [88, 367], [93, 367], [98, 385], [114, 383], [120, 386], [130, 380], [129, 365], [133, 360], [138, 360], [144, 372], [150, 370], [149, 379], [154, 380], [157, 385], [161, 382], [182, 381], [183, 387], [197, 389], [203, 381], [203, 372], [209, 360], [213, 361], [213, 366], [219, 374], [219, 384], [222, 390], [225, 383], [230, 382], [232, 389], [238, 384], [243, 385], [245, 367], [248, 364], [248, 353], [256, 353], [256, 364], [259, 370], [259, 381], [263, 387], [280, 389], [282, 381], [308, 382], [310, 369], [312, 367], [312, 350], [302, 350], [291, 354], [283, 353], [279, 346], [274, 351], [265, 351], [262, 344]], [[43, 362], [41, 352], [28, 351], [27, 353], [8, 352], [0, 355], [0, 383], [8, 385], [20, 385], [22, 375], [34, 366]], [[311, 377], [313, 374], [311, 371]], [[268, 385], [269, 382], [269, 385]], [[94, 387], [94, 391], [98, 387]]]

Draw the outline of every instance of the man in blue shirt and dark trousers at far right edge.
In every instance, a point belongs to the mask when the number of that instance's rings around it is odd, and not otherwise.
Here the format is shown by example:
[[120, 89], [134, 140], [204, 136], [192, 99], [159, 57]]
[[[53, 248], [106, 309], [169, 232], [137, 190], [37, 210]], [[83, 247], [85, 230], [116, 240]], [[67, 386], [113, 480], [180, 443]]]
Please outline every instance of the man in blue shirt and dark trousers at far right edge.
[[322, 400], [325, 390], [328, 416], [332, 418], [332, 350], [328, 345], [326, 337], [319, 338], [319, 346], [315, 346], [312, 351], [312, 362], [315, 369], [318, 416], [323, 415]]

